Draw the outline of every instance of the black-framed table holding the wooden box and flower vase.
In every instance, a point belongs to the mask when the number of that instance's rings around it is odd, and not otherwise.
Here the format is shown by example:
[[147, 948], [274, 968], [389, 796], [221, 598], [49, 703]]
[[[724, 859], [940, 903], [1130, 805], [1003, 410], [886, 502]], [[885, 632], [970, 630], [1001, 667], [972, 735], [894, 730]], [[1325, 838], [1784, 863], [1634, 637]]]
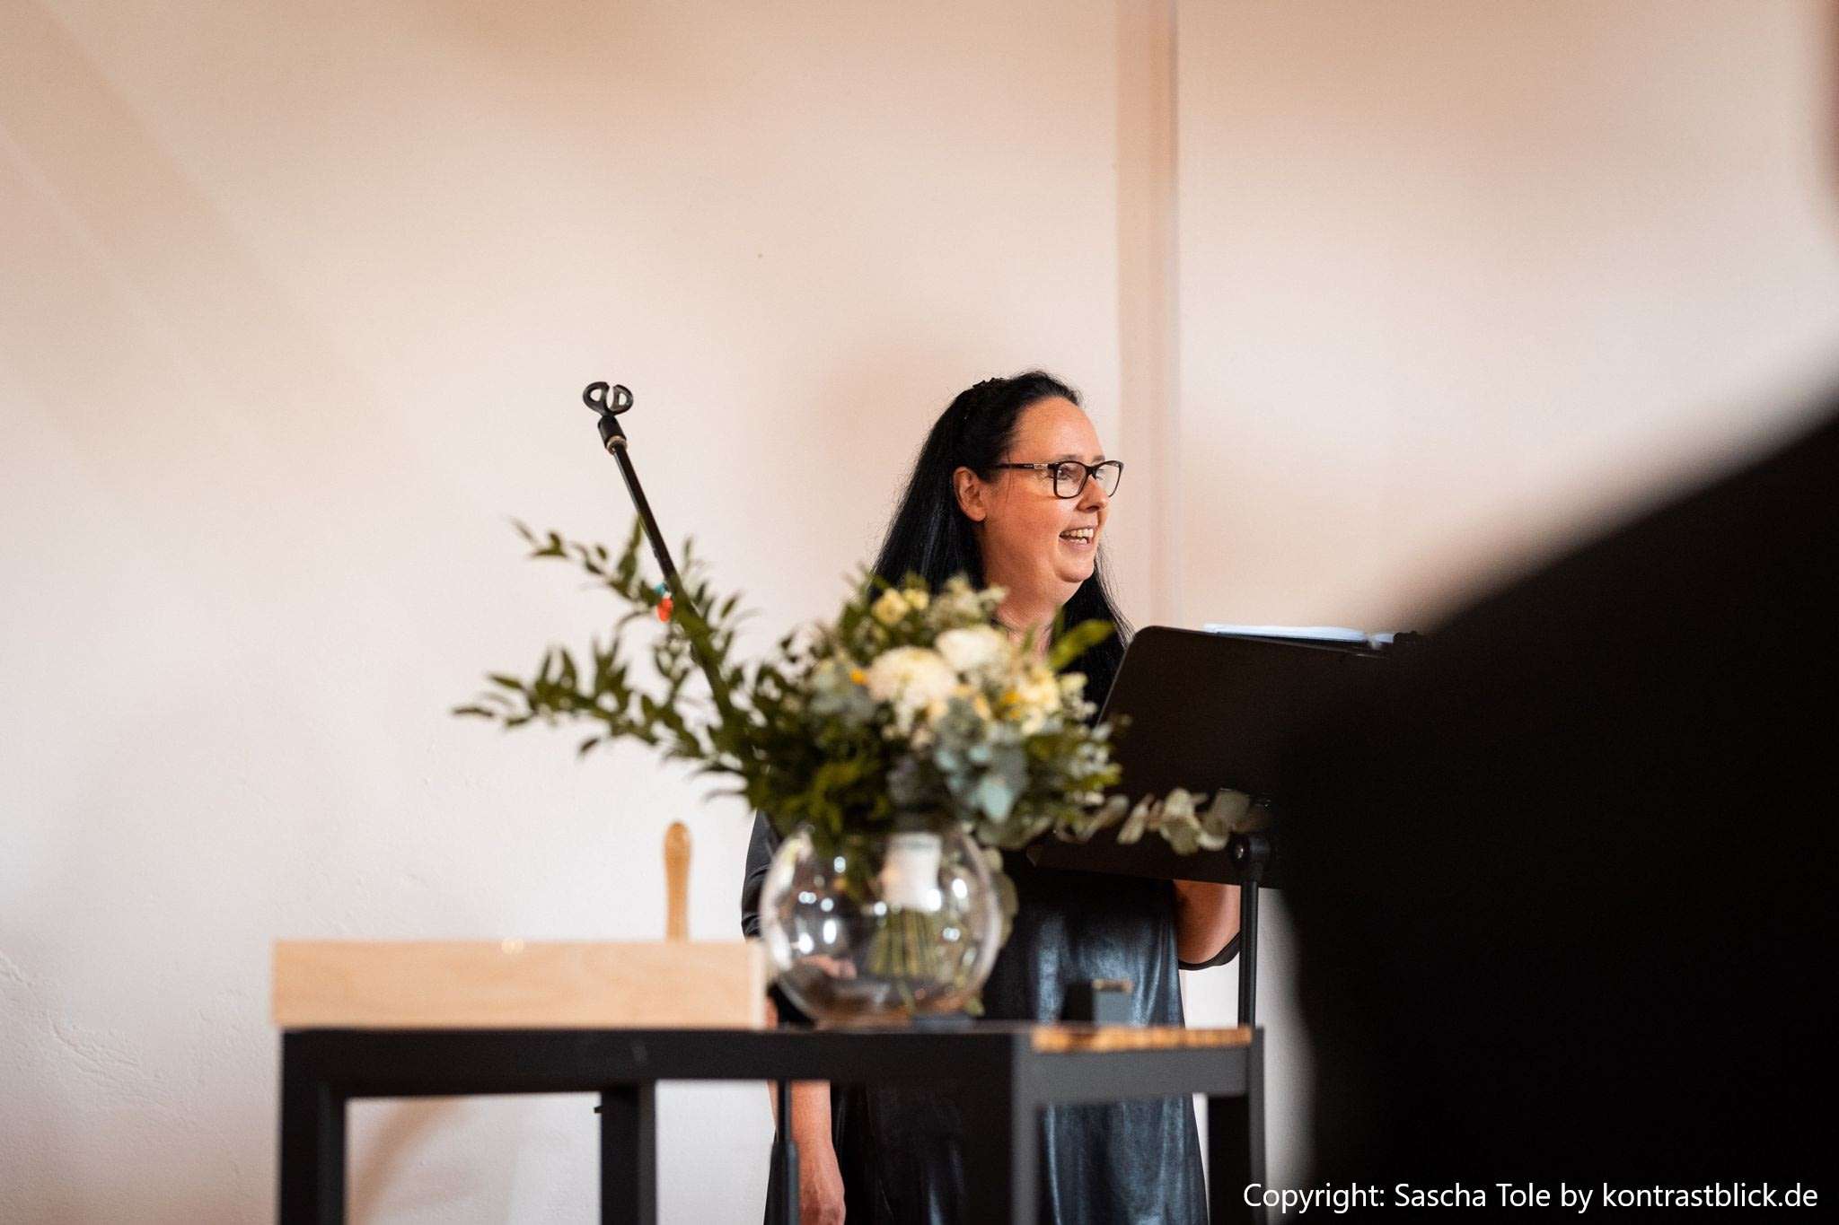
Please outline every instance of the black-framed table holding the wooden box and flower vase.
[[[951, 1085], [965, 1124], [967, 1219], [1035, 1219], [1043, 1106], [1205, 1093], [1214, 1221], [1262, 1219], [1263, 1047], [1249, 1027], [978, 1023], [954, 1030], [355, 1030], [281, 1036], [281, 1225], [346, 1212], [346, 1102], [598, 1093], [603, 1221], [657, 1219], [660, 1080]], [[765, 1161], [765, 1152], [761, 1152]]]

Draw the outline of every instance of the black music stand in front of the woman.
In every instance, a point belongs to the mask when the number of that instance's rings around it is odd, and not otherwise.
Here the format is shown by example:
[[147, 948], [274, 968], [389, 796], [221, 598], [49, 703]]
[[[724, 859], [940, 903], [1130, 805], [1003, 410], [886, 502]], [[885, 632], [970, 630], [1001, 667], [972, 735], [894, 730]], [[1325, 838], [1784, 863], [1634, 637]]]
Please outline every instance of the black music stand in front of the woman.
[[1116, 826], [1087, 843], [1046, 836], [1028, 847], [1030, 861], [1239, 885], [1239, 1025], [1256, 1025], [1258, 893], [1282, 887], [1284, 874], [1276, 839], [1284, 755], [1324, 702], [1383, 681], [1414, 641], [1412, 634], [1398, 635], [1396, 645], [1374, 645], [1146, 626], [1124, 652], [1103, 709], [1103, 718], [1125, 720], [1113, 746], [1122, 782], [1111, 792], [1135, 804], [1144, 795], [1186, 788], [1205, 803], [1216, 790], [1232, 788], [1267, 808], [1271, 826], [1234, 834], [1223, 850], [1192, 856], [1175, 854], [1157, 834], [1120, 845]]

